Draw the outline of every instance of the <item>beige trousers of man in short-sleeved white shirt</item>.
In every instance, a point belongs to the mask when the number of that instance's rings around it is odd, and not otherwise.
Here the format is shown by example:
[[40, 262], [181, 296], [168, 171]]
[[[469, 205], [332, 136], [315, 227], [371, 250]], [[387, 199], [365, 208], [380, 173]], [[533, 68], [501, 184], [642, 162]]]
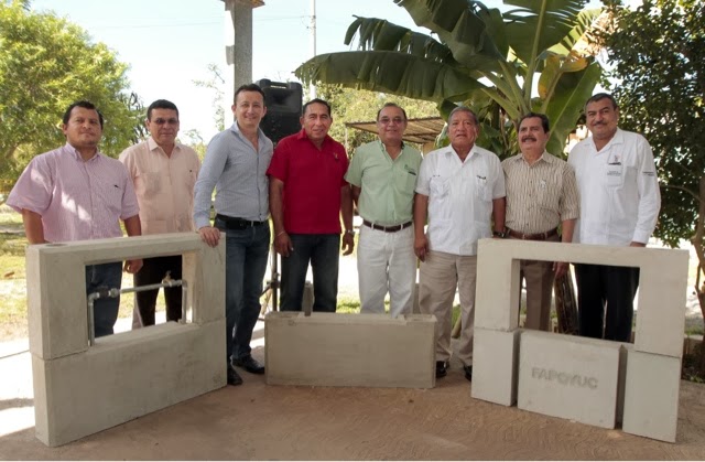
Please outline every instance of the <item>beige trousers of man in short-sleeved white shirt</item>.
[[459, 256], [430, 251], [419, 272], [419, 308], [423, 314], [436, 316], [436, 361], [448, 361], [453, 326], [453, 299], [457, 288], [460, 298], [463, 330], [458, 359], [464, 366], [473, 365], [473, 329], [475, 325], [475, 281], [477, 256]]

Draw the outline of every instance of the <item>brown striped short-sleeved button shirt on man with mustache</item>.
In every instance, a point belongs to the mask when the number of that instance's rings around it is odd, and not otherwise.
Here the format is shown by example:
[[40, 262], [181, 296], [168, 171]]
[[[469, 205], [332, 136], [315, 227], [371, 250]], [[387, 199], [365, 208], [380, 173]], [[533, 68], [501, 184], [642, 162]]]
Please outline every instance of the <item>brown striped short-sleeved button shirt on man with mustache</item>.
[[579, 215], [575, 172], [546, 151], [530, 164], [523, 154], [502, 162], [507, 186], [505, 225], [524, 234], [545, 233]]

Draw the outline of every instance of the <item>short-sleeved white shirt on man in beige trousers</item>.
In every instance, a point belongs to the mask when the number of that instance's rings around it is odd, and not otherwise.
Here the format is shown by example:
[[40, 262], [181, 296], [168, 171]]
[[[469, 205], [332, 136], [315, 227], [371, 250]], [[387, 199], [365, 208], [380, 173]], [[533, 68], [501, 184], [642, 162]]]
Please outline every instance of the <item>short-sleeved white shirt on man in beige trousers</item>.
[[477, 255], [477, 240], [491, 237], [492, 201], [505, 197], [499, 158], [474, 146], [465, 161], [453, 147], [427, 153], [416, 192], [429, 196], [429, 247], [447, 254]]

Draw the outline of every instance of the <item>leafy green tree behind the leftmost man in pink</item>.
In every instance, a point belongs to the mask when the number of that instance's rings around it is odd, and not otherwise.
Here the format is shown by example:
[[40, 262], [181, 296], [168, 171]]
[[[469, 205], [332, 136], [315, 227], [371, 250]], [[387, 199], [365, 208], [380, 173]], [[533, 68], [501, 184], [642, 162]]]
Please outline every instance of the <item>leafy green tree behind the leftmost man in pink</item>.
[[0, 191], [29, 160], [65, 142], [61, 118], [75, 100], [106, 119], [101, 151], [117, 155], [143, 135], [143, 110], [126, 90], [128, 66], [79, 26], [23, 1], [0, 3]]

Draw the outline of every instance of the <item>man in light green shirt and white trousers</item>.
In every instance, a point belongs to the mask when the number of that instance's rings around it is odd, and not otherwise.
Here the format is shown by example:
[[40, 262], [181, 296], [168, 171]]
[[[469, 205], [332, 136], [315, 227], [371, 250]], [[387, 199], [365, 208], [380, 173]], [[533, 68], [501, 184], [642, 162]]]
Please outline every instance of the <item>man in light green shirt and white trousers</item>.
[[345, 180], [362, 217], [357, 249], [360, 311], [410, 314], [416, 281], [412, 212], [421, 152], [404, 144], [406, 112], [393, 103], [377, 114], [379, 141], [359, 147]]

